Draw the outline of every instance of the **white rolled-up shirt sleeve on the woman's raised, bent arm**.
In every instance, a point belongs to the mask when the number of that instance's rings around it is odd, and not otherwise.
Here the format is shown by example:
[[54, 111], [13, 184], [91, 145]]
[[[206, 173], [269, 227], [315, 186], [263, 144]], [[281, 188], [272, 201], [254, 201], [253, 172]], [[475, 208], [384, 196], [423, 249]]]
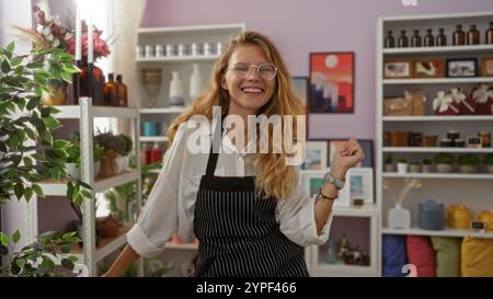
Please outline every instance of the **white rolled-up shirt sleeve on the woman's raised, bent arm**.
[[332, 212], [320, 232], [317, 232], [314, 197], [310, 198], [298, 185], [289, 198], [277, 203], [276, 220], [280, 231], [300, 246], [322, 245], [329, 239]]

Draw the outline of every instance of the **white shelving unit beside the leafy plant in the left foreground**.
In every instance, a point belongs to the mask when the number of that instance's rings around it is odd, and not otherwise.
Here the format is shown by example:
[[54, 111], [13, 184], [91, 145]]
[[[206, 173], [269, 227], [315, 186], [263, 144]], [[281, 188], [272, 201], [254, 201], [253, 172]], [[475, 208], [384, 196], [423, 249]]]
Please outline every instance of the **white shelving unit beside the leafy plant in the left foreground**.
[[[138, 212], [141, 206], [141, 182], [140, 182], [140, 162], [137, 159], [136, 170], [128, 170], [112, 177], [94, 179], [93, 169], [93, 119], [95, 117], [117, 117], [129, 118], [133, 122], [134, 140], [139, 138], [139, 113], [136, 108], [131, 107], [103, 107], [93, 106], [91, 99], [80, 99], [80, 105], [67, 105], [55, 106], [60, 111], [55, 117], [58, 119], [78, 119], [79, 131], [81, 138], [81, 180], [88, 183], [92, 189], [92, 197], [83, 200], [82, 214], [83, 214], [83, 248], [80, 249], [77, 245], [72, 246], [70, 255], [79, 257], [78, 263], [83, 263], [88, 267], [89, 276], [96, 276], [96, 263], [101, 262], [104, 257], [118, 250], [126, 243], [126, 232], [131, 228], [133, 223], [125, 223], [119, 230], [119, 234], [115, 238], [102, 238], [100, 244], [96, 248], [95, 237], [95, 195], [98, 193], [105, 192], [112, 187], [128, 183], [137, 182], [136, 200]], [[135, 147], [135, 154], [139, 157], [139, 147]], [[39, 184], [46, 196], [66, 196], [67, 185], [65, 183], [43, 182]], [[28, 239], [35, 240], [38, 234], [38, 200], [37, 198], [30, 202], [27, 208], [26, 221]], [[50, 200], [44, 199], [44, 200]], [[55, 199], [51, 199], [55, 200]], [[138, 267], [139, 275], [142, 275], [142, 264], [139, 261]]]

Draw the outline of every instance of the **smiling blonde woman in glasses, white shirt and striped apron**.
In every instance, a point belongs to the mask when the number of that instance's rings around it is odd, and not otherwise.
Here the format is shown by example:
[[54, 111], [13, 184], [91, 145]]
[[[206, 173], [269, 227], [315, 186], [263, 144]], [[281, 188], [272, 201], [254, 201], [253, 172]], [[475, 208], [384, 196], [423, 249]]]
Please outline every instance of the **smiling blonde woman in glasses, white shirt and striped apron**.
[[[252, 129], [246, 128], [249, 115], [284, 119], [300, 114], [286, 66], [268, 38], [250, 31], [239, 34], [216, 62], [207, 90], [170, 126], [172, 143], [157, 183], [127, 234], [128, 245], [105, 276], [121, 276], [139, 256], [161, 254], [173, 233], [198, 239], [196, 276], [309, 275], [303, 248], [328, 240], [337, 189], [347, 170], [364, 159], [362, 148], [348, 140], [318, 196], [309, 198], [298, 188], [297, 166], [286, 163], [288, 154], [273, 151], [272, 141], [279, 136], [272, 129], [267, 153], [250, 153], [259, 148], [260, 137], [248, 134], [243, 148], [243, 129], [222, 130], [225, 124], [197, 129], [196, 116], [213, 120], [215, 106], [222, 123], [225, 117], [243, 119], [244, 131]], [[210, 146], [197, 151], [196, 140], [220, 145], [220, 150]]]

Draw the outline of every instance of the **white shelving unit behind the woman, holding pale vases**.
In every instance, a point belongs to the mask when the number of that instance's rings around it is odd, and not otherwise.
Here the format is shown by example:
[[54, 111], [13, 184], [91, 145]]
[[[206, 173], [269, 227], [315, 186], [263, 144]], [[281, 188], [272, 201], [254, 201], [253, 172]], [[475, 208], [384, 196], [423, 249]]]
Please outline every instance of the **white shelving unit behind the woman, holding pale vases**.
[[[228, 43], [231, 37], [238, 33], [244, 31], [244, 24], [219, 24], [219, 25], [197, 25], [197, 26], [172, 26], [172, 27], [152, 27], [139, 30], [139, 45], [191, 45], [196, 43], [203, 45], [204, 43]], [[137, 71], [140, 78], [141, 70], [144, 68], [161, 68], [162, 82], [158, 96], [158, 107], [148, 107], [147, 94], [145, 87], [139, 80], [136, 89], [136, 99], [139, 101], [139, 114], [141, 122], [158, 122], [160, 123], [159, 136], [142, 136], [139, 138], [140, 145], [149, 142], [160, 142], [164, 147], [168, 146], [168, 137], [164, 136], [168, 126], [173, 119], [182, 114], [192, 103], [193, 99], [190, 99], [188, 87], [190, 77], [192, 74], [192, 65], [198, 64], [202, 77], [204, 79], [204, 88], [208, 82], [213, 66], [219, 58], [219, 54], [215, 53], [208, 56], [181, 56], [181, 57], [151, 57], [151, 58], [138, 58]], [[184, 88], [185, 105], [184, 106], [171, 106], [169, 104], [169, 85], [171, 80], [171, 72], [177, 71], [180, 79]], [[157, 175], [160, 170], [151, 170], [150, 173]], [[191, 244], [176, 244], [169, 242], [165, 245], [164, 254], [160, 257], [164, 264], [172, 264], [173, 268], [168, 273], [168, 276], [183, 276], [182, 266], [190, 263], [197, 254], [198, 245]]]

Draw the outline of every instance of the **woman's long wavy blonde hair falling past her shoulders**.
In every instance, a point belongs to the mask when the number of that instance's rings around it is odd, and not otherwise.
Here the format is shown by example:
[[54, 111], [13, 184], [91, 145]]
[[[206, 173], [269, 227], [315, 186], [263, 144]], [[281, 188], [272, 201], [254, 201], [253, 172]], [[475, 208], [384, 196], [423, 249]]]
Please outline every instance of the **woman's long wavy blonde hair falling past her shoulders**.
[[[231, 55], [234, 49], [242, 45], [259, 46], [265, 54], [268, 61], [277, 67], [276, 82], [273, 96], [260, 108], [257, 115], [280, 116], [283, 127], [285, 126], [285, 115], [293, 115], [293, 133], [296, 139], [297, 118], [301, 114], [301, 102], [295, 96], [291, 90], [290, 76], [287, 71], [279, 51], [274, 44], [264, 35], [245, 31], [237, 35], [227, 46], [221, 57], [216, 61], [213, 70], [213, 77], [208, 88], [193, 102], [182, 115], [180, 115], [168, 129], [168, 137], [173, 137], [180, 124], [187, 122], [193, 115], [204, 115], [213, 119], [213, 106], [221, 106], [221, 112], [228, 112], [229, 93], [221, 88], [221, 79], [225, 76]], [[259, 128], [257, 128], [259, 130]], [[263, 197], [287, 198], [297, 185], [296, 169], [286, 164], [288, 154], [283, 150], [282, 153], [273, 153], [273, 130], [268, 129], [268, 153], [255, 154], [256, 180], [255, 188], [257, 194]], [[260, 136], [257, 134], [257, 136]]]

